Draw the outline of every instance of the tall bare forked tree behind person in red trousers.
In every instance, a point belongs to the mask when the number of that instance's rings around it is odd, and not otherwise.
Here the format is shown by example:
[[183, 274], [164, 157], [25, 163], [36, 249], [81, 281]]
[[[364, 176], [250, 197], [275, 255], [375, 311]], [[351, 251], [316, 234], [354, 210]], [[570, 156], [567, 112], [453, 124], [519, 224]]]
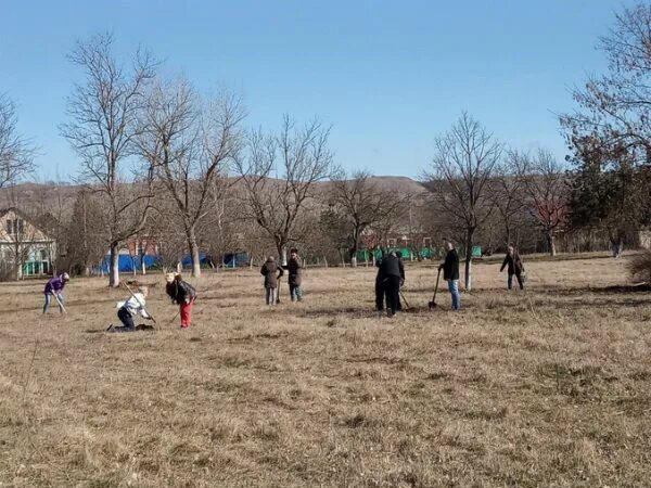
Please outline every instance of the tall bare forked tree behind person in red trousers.
[[157, 84], [146, 108], [142, 155], [176, 204], [192, 259], [201, 275], [197, 226], [228, 190], [226, 169], [240, 150], [240, 100], [228, 93], [200, 105], [188, 82]]

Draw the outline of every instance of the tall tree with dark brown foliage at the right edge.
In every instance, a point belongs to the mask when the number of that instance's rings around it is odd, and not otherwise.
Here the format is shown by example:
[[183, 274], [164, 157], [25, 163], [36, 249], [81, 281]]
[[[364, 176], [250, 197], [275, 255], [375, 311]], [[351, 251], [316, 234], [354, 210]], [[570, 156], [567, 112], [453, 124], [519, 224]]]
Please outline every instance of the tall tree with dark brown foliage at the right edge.
[[617, 257], [649, 224], [651, 4], [623, 8], [597, 47], [607, 70], [573, 90], [578, 107], [560, 121], [574, 152], [572, 226], [605, 231]]

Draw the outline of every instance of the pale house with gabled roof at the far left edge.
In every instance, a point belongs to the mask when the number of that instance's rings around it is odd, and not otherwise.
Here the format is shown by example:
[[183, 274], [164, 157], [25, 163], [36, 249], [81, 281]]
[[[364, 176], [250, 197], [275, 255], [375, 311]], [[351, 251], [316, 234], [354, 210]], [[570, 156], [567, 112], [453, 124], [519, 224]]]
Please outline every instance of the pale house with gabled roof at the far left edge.
[[14, 279], [50, 275], [56, 241], [15, 207], [0, 209], [0, 274]]

